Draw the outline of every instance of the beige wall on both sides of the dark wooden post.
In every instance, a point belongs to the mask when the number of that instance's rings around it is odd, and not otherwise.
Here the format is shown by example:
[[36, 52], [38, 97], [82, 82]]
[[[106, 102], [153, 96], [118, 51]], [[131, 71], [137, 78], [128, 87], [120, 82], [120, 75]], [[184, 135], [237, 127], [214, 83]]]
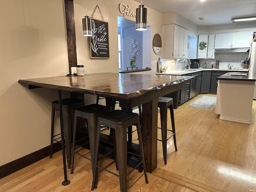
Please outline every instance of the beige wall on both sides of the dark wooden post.
[[[28, 90], [19, 79], [68, 74], [66, 24], [63, 0], [0, 1], [0, 166], [50, 144], [51, 102], [57, 91], [46, 88]], [[85, 1], [74, 1], [76, 51], [85, 73], [118, 73], [118, 4], [135, 12], [140, 3], [133, 0], [87, 0], [88, 15], [98, 5], [108, 22], [110, 58], [90, 59], [89, 40], [82, 36]], [[162, 14], [148, 8], [152, 34], [162, 34]], [[100, 19], [96, 10], [94, 18]], [[130, 18], [130, 20], [135, 18]], [[161, 53], [160, 53], [161, 54]], [[150, 66], [157, 55], [151, 48]], [[156, 69], [142, 72], [155, 74]], [[66, 93], [64, 96], [68, 96]], [[88, 98], [88, 97], [86, 97]]]

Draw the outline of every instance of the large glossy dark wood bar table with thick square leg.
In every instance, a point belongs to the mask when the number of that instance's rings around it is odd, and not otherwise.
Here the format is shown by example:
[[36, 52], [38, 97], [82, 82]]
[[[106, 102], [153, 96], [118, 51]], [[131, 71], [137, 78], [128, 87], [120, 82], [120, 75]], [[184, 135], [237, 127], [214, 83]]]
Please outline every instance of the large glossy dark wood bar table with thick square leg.
[[[142, 104], [142, 136], [147, 172], [157, 164], [158, 97], [182, 88], [192, 76], [98, 73], [18, 80], [27, 88], [51, 88], [93, 94], [120, 101], [124, 110]], [[59, 98], [60, 102], [61, 96]]]

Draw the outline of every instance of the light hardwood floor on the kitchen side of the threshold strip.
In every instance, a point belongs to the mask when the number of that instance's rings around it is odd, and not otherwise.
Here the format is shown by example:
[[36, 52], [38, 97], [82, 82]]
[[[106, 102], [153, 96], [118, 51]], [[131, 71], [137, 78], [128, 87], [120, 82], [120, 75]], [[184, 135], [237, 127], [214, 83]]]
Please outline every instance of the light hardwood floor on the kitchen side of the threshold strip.
[[158, 147], [153, 174], [179, 184], [186, 181], [183, 186], [195, 185], [192, 188], [199, 191], [256, 191], [256, 101], [248, 125], [220, 120], [215, 106], [212, 110], [187, 107], [200, 96], [174, 110], [178, 151], [170, 139], [164, 165]]

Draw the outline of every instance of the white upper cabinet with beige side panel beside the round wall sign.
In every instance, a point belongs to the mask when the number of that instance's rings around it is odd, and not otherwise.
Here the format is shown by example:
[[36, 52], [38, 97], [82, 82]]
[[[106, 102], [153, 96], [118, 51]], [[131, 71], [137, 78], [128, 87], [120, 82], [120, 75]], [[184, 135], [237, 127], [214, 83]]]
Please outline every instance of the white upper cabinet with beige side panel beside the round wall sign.
[[187, 58], [188, 30], [177, 25], [163, 26], [163, 58]]

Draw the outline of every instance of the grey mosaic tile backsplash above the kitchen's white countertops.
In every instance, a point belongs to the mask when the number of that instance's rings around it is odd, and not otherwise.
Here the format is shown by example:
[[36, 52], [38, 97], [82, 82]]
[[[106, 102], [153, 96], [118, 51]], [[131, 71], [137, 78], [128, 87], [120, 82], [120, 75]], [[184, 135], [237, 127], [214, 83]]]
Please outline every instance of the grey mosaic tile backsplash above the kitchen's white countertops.
[[[227, 68], [228, 64], [237, 68], [243, 68], [244, 64], [241, 61], [248, 57], [248, 52], [222, 52], [215, 53], [215, 59], [199, 59], [199, 63], [200, 67], [206, 62], [206, 64], [213, 64], [213, 68], [215, 68], [216, 60], [219, 60], [219, 68]], [[182, 68], [182, 62], [177, 62], [177, 59], [161, 59], [161, 61], [162, 66], [168, 66], [167, 70]]]

